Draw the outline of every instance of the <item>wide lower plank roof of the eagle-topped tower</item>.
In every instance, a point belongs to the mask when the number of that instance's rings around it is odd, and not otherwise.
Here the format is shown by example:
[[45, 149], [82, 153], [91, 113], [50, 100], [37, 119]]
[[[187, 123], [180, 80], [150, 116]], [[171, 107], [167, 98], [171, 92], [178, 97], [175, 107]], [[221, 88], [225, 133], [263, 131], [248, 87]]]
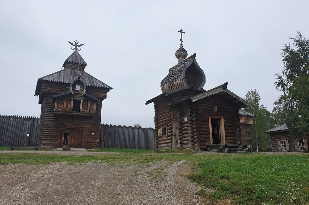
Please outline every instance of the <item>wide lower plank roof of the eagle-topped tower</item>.
[[[106, 88], [108, 89], [107, 92], [112, 90], [112, 87], [106, 85], [104, 82], [99, 81], [92, 75], [86, 73], [85, 71], [80, 71], [82, 73], [81, 79], [87, 86], [94, 86], [94, 87], [100, 87], [100, 88]], [[40, 94], [40, 87], [42, 85], [42, 81], [52, 81], [52, 82], [62, 82], [62, 83], [71, 83], [73, 82], [75, 77], [76, 70], [72, 69], [63, 69], [56, 73], [49, 74], [44, 77], [38, 78], [38, 81], [36, 83], [36, 92], [35, 95]]]

